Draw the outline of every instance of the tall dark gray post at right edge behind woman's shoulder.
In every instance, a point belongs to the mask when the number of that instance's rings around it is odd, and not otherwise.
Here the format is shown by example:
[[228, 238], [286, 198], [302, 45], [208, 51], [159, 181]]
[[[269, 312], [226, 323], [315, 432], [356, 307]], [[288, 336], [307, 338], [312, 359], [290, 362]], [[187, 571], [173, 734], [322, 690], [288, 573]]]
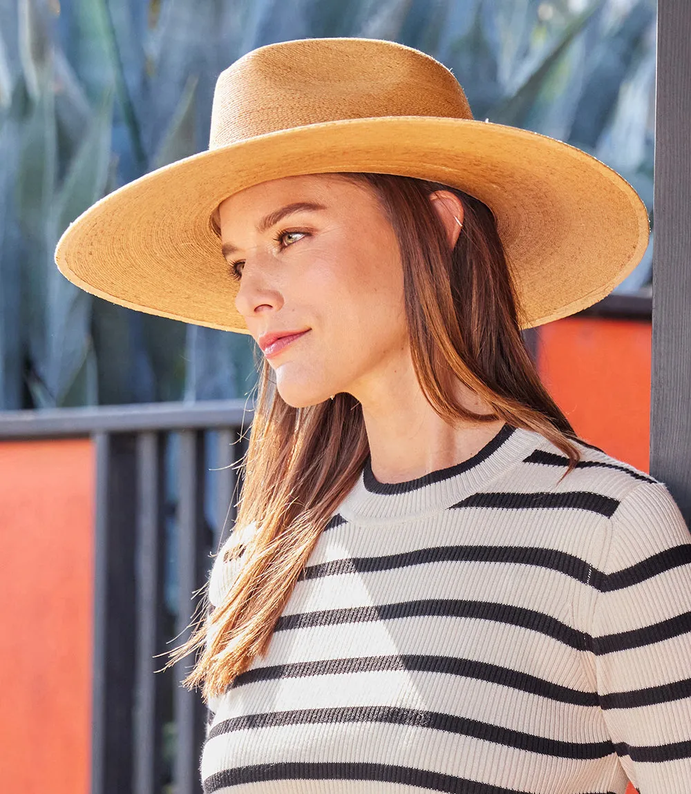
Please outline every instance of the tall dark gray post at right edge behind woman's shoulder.
[[650, 472], [691, 524], [691, 10], [658, 2]]

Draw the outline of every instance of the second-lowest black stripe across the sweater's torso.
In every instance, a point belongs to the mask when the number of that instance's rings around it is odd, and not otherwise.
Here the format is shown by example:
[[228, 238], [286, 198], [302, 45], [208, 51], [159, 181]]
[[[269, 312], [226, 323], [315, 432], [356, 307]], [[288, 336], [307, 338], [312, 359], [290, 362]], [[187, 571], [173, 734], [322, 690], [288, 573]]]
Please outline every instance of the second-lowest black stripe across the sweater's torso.
[[527, 734], [521, 730], [482, 723], [477, 719], [423, 711], [398, 706], [333, 706], [300, 708], [293, 711], [268, 711], [226, 719], [214, 726], [209, 741], [234, 730], [257, 730], [284, 725], [318, 725], [322, 723], [390, 723], [409, 727], [442, 730], [457, 736], [469, 736], [481, 742], [513, 747], [527, 753], [592, 761], [614, 753], [609, 740], [604, 742], [562, 742], [545, 736]]

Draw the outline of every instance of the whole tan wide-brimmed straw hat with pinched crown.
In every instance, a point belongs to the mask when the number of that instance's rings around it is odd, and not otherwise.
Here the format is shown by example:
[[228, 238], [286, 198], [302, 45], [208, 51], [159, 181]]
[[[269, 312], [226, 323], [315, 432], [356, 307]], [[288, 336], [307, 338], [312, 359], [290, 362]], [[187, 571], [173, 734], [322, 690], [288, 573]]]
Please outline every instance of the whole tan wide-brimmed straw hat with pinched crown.
[[475, 121], [457, 79], [391, 41], [269, 44], [218, 77], [209, 149], [142, 176], [79, 216], [56, 248], [71, 282], [150, 314], [248, 333], [212, 225], [269, 179], [380, 172], [430, 179], [494, 214], [523, 328], [602, 299], [647, 247], [647, 210], [611, 168], [562, 141]]

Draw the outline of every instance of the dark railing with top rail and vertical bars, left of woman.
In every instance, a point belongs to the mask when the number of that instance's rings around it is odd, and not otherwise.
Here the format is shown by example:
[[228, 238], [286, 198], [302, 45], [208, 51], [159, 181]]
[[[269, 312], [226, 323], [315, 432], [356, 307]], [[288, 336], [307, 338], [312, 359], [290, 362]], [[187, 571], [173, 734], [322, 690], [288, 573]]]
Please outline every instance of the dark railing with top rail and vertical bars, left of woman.
[[0, 439], [95, 442], [92, 794], [193, 794], [206, 711], [158, 672], [188, 636], [234, 524], [236, 466], [252, 419], [243, 400], [0, 414]]

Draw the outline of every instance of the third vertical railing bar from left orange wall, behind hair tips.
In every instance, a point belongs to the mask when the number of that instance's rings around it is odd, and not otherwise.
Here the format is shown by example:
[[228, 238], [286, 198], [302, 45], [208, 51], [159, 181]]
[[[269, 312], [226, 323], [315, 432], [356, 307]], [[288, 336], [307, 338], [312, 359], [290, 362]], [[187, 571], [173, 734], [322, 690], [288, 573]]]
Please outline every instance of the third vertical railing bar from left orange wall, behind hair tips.
[[[190, 636], [194, 603], [191, 599], [203, 584], [200, 537], [203, 530], [203, 434], [195, 430], [180, 432], [179, 503], [178, 503], [178, 640]], [[195, 599], [196, 601], [197, 599]], [[199, 790], [199, 744], [203, 732], [203, 703], [198, 692], [180, 684], [190, 668], [190, 660], [178, 666], [176, 688], [176, 794]]]

